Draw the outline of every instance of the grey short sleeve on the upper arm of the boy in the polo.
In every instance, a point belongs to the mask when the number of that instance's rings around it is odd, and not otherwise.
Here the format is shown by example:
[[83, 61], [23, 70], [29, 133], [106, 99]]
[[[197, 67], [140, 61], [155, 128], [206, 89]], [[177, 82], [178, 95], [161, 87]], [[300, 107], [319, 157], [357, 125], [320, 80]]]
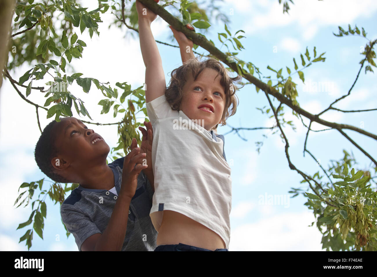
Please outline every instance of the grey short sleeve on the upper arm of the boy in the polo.
[[101, 233], [97, 225], [92, 222], [80, 209], [71, 204], [62, 204], [60, 207], [61, 221], [66, 225], [81, 251], [81, 245], [90, 236]]

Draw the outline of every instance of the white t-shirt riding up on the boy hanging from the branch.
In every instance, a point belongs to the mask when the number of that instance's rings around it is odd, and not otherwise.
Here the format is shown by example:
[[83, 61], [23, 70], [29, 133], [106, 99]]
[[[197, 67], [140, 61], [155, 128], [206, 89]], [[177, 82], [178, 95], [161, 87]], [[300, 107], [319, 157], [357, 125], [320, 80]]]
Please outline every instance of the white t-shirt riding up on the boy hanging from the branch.
[[146, 106], [153, 127], [153, 226], [159, 231], [163, 211], [176, 211], [213, 230], [229, 248], [231, 168], [224, 136], [172, 110], [165, 95]]

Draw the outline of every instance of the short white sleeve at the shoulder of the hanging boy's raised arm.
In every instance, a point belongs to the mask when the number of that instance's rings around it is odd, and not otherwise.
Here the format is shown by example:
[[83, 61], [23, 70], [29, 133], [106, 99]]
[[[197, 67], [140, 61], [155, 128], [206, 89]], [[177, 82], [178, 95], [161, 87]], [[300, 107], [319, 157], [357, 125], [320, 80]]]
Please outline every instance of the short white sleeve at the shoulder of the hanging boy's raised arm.
[[159, 119], [177, 116], [179, 113], [176, 110], [172, 110], [169, 103], [166, 101], [165, 95], [161, 95], [156, 99], [153, 99], [152, 101], [148, 102], [146, 106], [147, 114], [152, 124]]

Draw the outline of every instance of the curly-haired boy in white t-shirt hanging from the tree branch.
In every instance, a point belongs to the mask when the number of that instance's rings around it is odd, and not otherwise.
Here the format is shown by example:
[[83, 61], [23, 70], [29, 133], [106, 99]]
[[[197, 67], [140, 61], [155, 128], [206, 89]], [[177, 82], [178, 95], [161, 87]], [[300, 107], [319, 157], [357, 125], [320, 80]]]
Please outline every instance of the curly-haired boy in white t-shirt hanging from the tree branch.
[[[228, 251], [231, 169], [219, 123], [236, 112], [234, 84], [214, 59], [199, 62], [192, 41], [172, 29], [184, 64], [164, 70], [150, 29], [156, 15], [136, 1], [140, 47], [146, 65], [147, 113], [153, 125], [152, 168], [155, 193], [150, 217], [158, 231], [155, 251]], [[181, 50], [182, 51], [182, 50]], [[182, 53], [181, 53], [182, 54]]]

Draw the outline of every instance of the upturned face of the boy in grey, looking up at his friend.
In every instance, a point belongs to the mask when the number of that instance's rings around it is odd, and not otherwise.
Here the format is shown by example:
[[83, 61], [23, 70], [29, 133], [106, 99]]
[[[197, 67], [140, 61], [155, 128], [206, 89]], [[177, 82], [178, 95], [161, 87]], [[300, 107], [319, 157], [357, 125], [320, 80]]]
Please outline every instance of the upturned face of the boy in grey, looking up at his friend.
[[[100, 135], [87, 129], [87, 126], [76, 118], [63, 118], [55, 128], [58, 155], [70, 165], [80, 168], [82, 162], [90, 162], [101, 156], [106, 158], [110, 151], [109, 145]], [[92, 143], [96, 138], [100, 139]]]

